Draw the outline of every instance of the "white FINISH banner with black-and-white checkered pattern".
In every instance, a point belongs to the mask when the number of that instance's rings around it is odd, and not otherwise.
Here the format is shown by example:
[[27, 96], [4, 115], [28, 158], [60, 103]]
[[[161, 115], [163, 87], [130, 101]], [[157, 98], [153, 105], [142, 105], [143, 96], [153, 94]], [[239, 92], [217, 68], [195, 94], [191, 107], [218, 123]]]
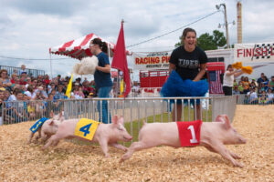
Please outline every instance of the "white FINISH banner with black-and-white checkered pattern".
[[256, 44], [236, 44], [234, 48], [234, 62], [274, 63], [274, 42]]

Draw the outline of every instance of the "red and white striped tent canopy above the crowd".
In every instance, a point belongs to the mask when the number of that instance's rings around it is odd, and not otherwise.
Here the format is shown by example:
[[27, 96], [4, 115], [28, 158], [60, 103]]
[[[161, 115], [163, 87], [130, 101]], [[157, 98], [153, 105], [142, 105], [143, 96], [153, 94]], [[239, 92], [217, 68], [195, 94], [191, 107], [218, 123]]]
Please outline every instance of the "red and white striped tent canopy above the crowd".
[[[49, 54], [70, 56], [72, 58], [81, 59], [85, 56], [92, 56], [90, 52], [90, 41], [94, 38], [100, 38], [98, 35], [89, 34], [82, 36], [78, 39], [71, 40], [65, 44], [54, 46], [49, 48]], [[109, 50], [114, 51], [115, 45], [103, 38], [100, 38], [103, 42], [106, 42]]]

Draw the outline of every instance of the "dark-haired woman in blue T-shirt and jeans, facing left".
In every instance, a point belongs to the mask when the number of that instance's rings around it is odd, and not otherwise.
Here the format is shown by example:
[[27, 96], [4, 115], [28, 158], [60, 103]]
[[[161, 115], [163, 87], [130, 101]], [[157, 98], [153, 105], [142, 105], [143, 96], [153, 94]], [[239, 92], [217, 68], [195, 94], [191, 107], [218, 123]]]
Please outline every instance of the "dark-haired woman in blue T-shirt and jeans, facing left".
[[[107, 56], [107, 50], [108, 46], [106, 43], [101, 42], [99, 38], [95, 38], [90, 42], [90, 51], [92, 55], [97, 56], [98, 58], [98, 66], [96, 66], [96, 71], [94, 74], [94, 81], [96, 87], [98, 87], [99, 97], [110, 97], [111, 89], [112, 89], [112, 81], [111, 81], [111, 66], [109, 61], [109, 56]], [[98, 102], [98, 110], [99, 115], [102, 113], [102, 116], [100, 117], [100, 121], [103, 123], [111, 123], [111, 114], [109, 117], [108, 113], [108, 104], [107, 101], [104, 100], [101, 102], [100, 107], [100, 101]], [[100, 111], [100, 108], [102, 110]], [[101, 119], [102, 117], [102, 119]]]

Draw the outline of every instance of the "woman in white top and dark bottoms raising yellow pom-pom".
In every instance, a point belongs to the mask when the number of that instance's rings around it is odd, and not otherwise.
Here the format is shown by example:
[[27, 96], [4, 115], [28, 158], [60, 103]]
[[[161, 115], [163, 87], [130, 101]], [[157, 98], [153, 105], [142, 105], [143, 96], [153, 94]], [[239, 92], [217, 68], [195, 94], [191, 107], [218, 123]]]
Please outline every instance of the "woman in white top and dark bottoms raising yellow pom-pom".
[[224, 76], [224, 82], [223, 82], [223, 90], [225, 93], [225, 96], [232, 96], [232, 87], [234, 79], [237, 76], [242, 75], [242, 71], [234, 70], [232, 65], [227, 66], [227, 71]]

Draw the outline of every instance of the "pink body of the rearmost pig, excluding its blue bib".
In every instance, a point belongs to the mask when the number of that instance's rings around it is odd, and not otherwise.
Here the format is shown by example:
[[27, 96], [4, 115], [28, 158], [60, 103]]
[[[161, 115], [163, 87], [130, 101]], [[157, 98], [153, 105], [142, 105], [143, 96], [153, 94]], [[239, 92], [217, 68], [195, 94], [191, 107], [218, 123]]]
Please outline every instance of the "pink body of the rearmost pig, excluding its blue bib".
[[[65, 119], [62, 112], [60, 112], [56, 116], [54, 115], [53, 112], [51, 112], [50, 117], [52, 118], [47, 119], [47, 121], [45, 121], [43, 125], [37, 129], [38, 136], [35, 137], [36, 140], [38, 140], [41, 137], [43, 142], [47, 141], [47, 139], [50, 136], [56, 134], [56, 132], [58, 131], [58, 126]], [[35, 133], [33, 132], [30, 133], [27, 144], [31, 143], [31, 139], [34, 135]]]

